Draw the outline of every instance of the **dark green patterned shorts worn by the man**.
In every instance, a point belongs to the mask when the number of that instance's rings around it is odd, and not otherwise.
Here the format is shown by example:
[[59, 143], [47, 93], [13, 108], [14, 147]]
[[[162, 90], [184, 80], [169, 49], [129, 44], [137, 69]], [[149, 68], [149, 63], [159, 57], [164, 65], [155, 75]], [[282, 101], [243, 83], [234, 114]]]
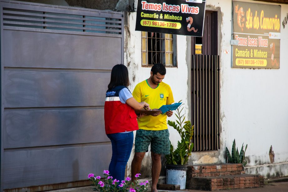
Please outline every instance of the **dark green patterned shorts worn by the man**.
[[151, 152], [157, 154], [170, 154], [170, 140], [168, 129], [150, 131], [139, 129], [135, 137], [135, 153], [148, 152], [151, 143]]

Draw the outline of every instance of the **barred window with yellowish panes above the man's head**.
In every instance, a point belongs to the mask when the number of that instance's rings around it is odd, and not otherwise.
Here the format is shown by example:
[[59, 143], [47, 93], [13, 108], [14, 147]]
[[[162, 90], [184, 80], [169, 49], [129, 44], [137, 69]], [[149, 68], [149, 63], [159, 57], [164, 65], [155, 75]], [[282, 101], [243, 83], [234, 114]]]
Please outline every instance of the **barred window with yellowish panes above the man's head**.
[[162, 63], [167, 67], [177, 66], [176, 35], [141, 32], [142, 66]]

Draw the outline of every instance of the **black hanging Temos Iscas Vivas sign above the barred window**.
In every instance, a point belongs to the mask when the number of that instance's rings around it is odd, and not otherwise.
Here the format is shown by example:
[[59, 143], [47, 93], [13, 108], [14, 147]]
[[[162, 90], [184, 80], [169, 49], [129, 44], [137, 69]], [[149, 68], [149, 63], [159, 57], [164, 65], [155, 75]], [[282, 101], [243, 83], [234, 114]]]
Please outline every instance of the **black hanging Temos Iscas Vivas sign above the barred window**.
[[203, 36], [206, 1], [138, 0], [136, 31]]

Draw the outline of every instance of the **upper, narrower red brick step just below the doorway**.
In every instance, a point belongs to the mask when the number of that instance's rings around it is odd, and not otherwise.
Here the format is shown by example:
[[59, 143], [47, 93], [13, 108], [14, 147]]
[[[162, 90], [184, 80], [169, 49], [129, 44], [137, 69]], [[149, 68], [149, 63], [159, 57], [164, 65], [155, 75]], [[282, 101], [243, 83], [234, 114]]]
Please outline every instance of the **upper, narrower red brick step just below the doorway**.
[[213, 177], [239, 174], [245, 174], [241, 163], [192, 165], [188, 166], [187, 170], [187, 176], [189, 177]]

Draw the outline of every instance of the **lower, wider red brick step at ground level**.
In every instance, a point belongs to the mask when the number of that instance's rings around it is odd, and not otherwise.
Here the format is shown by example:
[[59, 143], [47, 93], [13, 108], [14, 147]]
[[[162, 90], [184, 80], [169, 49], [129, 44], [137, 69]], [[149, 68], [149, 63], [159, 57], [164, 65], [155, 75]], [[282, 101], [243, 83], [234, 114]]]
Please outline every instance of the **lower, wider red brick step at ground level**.
[[244, 189], [264, 186], [264, 177], [261, 175], [239, 174], [214, 177], [187, 177], [186, 189], [197, 190], [227, 190]]

